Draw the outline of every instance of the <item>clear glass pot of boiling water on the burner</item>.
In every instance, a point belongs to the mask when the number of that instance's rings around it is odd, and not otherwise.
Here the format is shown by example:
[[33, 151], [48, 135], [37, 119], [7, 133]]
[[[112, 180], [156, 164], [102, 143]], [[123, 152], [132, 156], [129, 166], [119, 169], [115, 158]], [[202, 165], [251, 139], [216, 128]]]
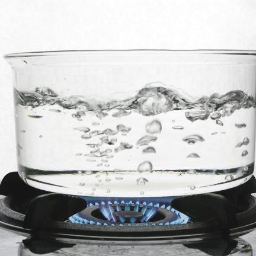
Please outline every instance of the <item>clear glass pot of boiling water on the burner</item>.
[[18, 172], [42, 190], [162, 197], [254, 171], [256, 56], [233, 50], [15, 53]]

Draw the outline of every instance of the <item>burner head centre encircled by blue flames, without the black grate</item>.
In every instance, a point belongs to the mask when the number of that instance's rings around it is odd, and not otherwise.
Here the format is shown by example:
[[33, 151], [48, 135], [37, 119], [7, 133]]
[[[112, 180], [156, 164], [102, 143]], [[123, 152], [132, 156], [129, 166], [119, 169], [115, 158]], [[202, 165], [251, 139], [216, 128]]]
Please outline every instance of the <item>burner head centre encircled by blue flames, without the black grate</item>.
[[162, 226], [185, 224], [190, 217], [171, 205], [143, 201], [115, 200], [89, 203], [82, 212], [69, 217], [72, 223], [104, 226]]

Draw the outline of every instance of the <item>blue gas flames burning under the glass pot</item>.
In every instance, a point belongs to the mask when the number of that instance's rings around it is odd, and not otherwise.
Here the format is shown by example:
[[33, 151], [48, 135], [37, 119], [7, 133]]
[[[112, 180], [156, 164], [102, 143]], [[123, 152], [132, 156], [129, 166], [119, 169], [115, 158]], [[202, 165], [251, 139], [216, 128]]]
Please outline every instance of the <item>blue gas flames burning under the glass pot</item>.
[[[171, 207], [171, 202], [177, 197], [152, 197], [152, 198], [136, 198], [136, 199], [120, 199], [113, 197], [83, 197], [87, 201], [87, 206], [99, 206], [101, 214], [105, 217], [108, 223], [104, 220], [94, 222], [87, 220], [81, 213], [69, 217], [72, 223], [82, 223], [86, 225], [104, 225], [104, 226], [123, 226], [126, 223], [127, 226], [163, 226], [163, 225], [178, 225], [186, 224], [190, 222], [191, 218], [184, 213]], [[171, 219], [167, 222], [150, 222], [153, 216], [155, 216], [158, 208], [169, 210], [175, 213], [175, 219]], [[128, 220], [121, 215], [115, 215], [115, 212], [139, 212], [139, 217], [130, 217]], [[109, 223], [112, 222], [112, 223]]]

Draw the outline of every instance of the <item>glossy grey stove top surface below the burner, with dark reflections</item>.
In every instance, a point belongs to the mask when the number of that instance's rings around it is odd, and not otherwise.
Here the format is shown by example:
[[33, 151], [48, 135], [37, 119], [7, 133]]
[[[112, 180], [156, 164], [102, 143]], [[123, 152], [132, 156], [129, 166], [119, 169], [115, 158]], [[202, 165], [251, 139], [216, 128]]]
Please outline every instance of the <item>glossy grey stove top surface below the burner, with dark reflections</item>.
[[191, 242], [190, 244], [116, 244], [71, 239], [65, 242], [27, 238], [0, 229], [1, 256], [205, 256], [205, 255], [253, 255], [256, 252], [256, 232], [227, 242], [222, 239]]

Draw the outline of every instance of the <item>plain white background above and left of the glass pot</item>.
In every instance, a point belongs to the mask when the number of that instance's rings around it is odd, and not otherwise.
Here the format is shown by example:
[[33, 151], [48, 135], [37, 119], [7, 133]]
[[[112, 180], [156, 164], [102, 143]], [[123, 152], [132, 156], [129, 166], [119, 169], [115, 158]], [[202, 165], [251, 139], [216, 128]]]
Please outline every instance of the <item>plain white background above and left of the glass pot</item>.
[[[256, 50], [256, 1], [0, 1], [0, 55], [71, 49]], [[16, 168], [11, 79], [0, 57], [0, 178]]]

